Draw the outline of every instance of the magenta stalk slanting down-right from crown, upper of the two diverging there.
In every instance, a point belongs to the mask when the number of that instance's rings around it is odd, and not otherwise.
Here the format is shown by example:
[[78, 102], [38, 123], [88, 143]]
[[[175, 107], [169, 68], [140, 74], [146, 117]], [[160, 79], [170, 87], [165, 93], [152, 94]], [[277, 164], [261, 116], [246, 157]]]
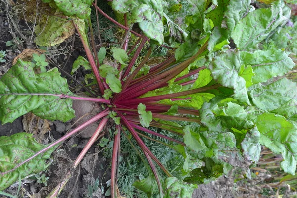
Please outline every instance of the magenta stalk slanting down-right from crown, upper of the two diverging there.
[[130, 131], [140, 148], [147, 152], [148, 155], [160, 166], [160, 168], [166, 173], [168, 177], [172, 177], [172, 174], [166, 169], [166, 167], [154, 156], [154, 154], [148, 149], [148, 147], [145, 145], [145, 143], [141, 140], [141, 138], [138, 136], [136, 131], [133, 129], [131, 124], [128, 122], [128, 120], [123, 116], [121, 113], [117, 112], [118, 115], [121, 117], [121, 122], [127, 127], [127, 129]]

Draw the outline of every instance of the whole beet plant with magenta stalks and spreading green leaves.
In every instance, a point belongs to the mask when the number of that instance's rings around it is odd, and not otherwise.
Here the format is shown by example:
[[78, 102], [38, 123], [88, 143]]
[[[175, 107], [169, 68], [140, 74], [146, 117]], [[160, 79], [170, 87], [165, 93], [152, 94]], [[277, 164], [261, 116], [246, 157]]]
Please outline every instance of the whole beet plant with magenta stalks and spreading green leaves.
[[[252, 167], [259, 160], [261, 145], [281, 155], [280, 167], [295, 174], [297, 87], [295, 82], [279, 77], [295, 64], [286, 50], [257, 48], [288, 22], [291, 13], [285, 2], [266, 2], [255, 9], [250, 0], [114, 0], [110, 6], [119, 22], [103, 12], [96, 0], [43, 3], [53, 14], [44, 27], [36, 26], [36, 44], [57, 45], [77, 32], [88, 60], [80, 56], [72, 72], [79, 66], [91, 68], [90, 78], [98, 89], [88, 90], [90, 96], [77, 96], [69, 90], [58, 68], [46, 70], [44, 55], [34, 55], [34, 64], [18, 59], [0, 79], [2, 124], [28, 112], [65, 122], [74, 117], [72, 100], [96, 102], [102, 110], [49, 145], [38, 144], [27, 133], [1, 136], [0, 190], [44, 170], [46, 159], [60, 143], [98, 120], [100, 124], [74, 167], [111, 123], [115, 129], [111, 197], [120, 196], [116, 186], [119, 150], [121, 134], [127, 131], [142, 149], [145, 166], [150, 167], [150, 175], [134, 183], [148, 197], [191, 197], [197, 184], [216, 179], [232, 168], [220, 158], [223, 153], [239, 152]], [[96, 51], [90, 6], [96, 9], [96, 15], [125, 30], [119, 48], [110, 48], [111, 63], [104, 64], [106, 48]], [[186, 9], [186, 17], [179, 22], [175, 17], [181, 9]], [[132, 29], [135, 24], [141, 33]], [[138, 39], [129, 49], [130, 34]], [[161, 45], [174, 49], [174, 55], [148, 66], [149, 57]], [[164, 135], [149, 127], [175, 135]], [[180, 154], [180, 174], [174, 175], [160, 162], [144, 143], [145, 138]], [[250, 177], [250, 170], [246, 172]], [[48, 197], [56, 197], [70, 177], [69, 172]]]

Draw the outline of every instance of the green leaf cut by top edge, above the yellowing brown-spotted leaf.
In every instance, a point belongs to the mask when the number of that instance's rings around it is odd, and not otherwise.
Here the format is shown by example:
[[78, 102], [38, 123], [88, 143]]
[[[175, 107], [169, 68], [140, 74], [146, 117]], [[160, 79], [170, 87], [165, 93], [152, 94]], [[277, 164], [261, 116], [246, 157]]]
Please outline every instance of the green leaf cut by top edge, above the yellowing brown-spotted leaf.
[[90, 17], [92, 0], [54, 0], [54, 2], [66, 16], [75, 15], [80, 19]]

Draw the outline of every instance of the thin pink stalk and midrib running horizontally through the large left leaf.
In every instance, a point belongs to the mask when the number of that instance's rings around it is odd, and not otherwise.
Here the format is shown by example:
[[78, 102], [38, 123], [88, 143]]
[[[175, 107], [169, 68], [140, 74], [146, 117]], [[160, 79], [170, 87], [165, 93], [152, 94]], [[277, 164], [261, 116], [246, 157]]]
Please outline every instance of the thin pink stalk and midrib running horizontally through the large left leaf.
[[0, 94], [0, 96], [4, 95], [29, 95], [29, 96], [56, 96], [60, 97], [61, 99], [76, 99], [76, 100], [85, 100], [85, 101], [92, 101], [92, 102], [99, 102], [99, 103], [105, 103], [110, 104], [110, 100], [108, 99], [99, 99], [99, 98], [90, 98], [90, 97], [75, 97], [75, 96], [69, 96], [65, 94], [42, 94], [42, 93], [26, 93], [26, 94], [19, 94], [19, 93], [9, 93], [9, 94]]

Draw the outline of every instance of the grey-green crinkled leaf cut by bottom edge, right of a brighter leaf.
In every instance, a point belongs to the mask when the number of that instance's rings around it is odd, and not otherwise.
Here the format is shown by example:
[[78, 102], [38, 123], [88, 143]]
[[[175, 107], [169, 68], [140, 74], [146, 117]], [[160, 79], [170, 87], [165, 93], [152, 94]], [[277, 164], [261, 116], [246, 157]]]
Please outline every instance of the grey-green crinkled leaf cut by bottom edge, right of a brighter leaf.
[[164, 188], [164, 198], [192, 198], [193, 191], [197, 188], [197, 185], [187, 184], [176, 177], [167, 177]]

